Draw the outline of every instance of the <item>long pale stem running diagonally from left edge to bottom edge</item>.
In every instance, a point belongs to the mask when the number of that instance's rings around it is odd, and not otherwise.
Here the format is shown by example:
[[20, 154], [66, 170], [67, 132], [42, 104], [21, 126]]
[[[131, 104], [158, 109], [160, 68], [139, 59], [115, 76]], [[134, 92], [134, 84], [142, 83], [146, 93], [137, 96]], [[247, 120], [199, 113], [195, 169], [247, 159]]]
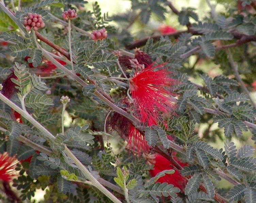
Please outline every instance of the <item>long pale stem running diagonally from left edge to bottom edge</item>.
[[[11, 108], [13, 108], [15, 111], [17, 111], [19, 114], [21, 114], [25, 119], [27, 119], [31, 124], [33, 124], [37, 129], [39, 129], [44, 135], [46, 135], [50, 140], [55, 139], [55, 137], [46, 129], [44, 128], [40, 123], [38, 123], [32, 116], [30, 116], [26, 111], [22, 110], [20, 107], [18, 107], [16, 104], [14, 104], [12, 101], [7, 99], [2, 93], [0, 93], [0, 100], [2, 100], [4, 103], [9, 105]], [[67, 148], [66, 145], [64, 145], [65, 153], [73, 160], [78, 168], [82, 171], [84, 177], [91, 181], [93, 185], [99, 189], [103, 194], [105, 194], [109, 199], [111, 199], [115, 203], [121, 203], [110, 191], [108, 191], [105, 187], [103, 187], [90, 173], [89, 170], [71, 153], [71, 151]]]

